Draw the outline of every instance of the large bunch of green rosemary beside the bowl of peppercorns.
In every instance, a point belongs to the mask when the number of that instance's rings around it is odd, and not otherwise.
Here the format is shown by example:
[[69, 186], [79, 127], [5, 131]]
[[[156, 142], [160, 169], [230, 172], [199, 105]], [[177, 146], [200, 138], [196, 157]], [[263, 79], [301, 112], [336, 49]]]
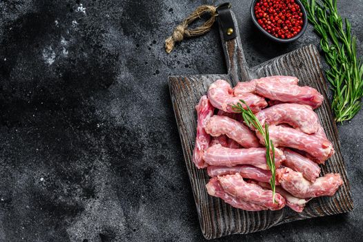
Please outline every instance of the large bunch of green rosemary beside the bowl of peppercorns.
[[[326, 77], [333, 90], [335, 120], [350, 120], [360, 111], [363, 96], [363, 63], [357, 61], [356, 37], [351, 36], [348, 19], [338, 15], [336, 0], [302, 0], [308, 21], [322, 38], [320, 46], [330, 69]], [[344, 28], [345, 26], [345, 28]]]

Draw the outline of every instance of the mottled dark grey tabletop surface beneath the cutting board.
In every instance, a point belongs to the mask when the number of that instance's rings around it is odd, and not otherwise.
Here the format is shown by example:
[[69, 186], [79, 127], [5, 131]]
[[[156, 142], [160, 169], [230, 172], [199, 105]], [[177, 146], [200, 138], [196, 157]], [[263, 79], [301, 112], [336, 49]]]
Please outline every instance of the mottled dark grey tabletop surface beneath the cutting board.
[[[251, 66], [293, 44], [231, 1]], [[0, 241], [202, 241], [168, 75], [225, 73], [217, 29], [164, 39], [208, 1], [0, 1]], [[362, 1], [340, 1], [362, 55]], [[355, 209], [219, 241], [360, 241], [363, 112], [339, 126]]]

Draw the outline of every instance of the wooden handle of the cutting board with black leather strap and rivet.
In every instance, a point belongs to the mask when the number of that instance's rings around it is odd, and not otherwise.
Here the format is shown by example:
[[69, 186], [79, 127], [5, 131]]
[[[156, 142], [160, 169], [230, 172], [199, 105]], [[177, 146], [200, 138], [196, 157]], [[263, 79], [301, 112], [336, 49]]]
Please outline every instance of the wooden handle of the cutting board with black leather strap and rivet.
[[230, 75], [233, 84], [250, 80], [235, 14], [230, 10], [229, 3], [219, 6], [217, 12], [228, 75]]

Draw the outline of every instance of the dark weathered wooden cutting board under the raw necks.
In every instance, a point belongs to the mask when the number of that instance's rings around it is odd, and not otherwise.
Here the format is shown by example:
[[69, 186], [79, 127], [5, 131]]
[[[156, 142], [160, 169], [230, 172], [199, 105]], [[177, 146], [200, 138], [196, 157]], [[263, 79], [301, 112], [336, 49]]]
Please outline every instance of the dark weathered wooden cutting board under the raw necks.
[[[219, 24], [228, 74], [169, 77], [171, 100], [203, 235], [206, 239], [214, 239], [228, 234], [247, 234], [266, 230], [282, 223], [353, 210], [353, 201], [344, 160], [340, 151], [337, 127], [328, 103], [328, 88], [322, 73], [322, 64], [317, 49], [312, 45], [305, 46], [286, 55], [271, 59], [259, 66], [249, 68], [244, 59], [237, 21], [233, 12], [231, 12], [231, 17], [237, 34], [235, 39], [224, 41], [225, 28]], [[231, 207], [224, 203], [222, 199], [207, 194], [205, 185], [208, 183], [209, 177], [206, 169], [197, 169], [192, 161], [197, 129], [195, 105], [197, 105], [202, 95], [206, 95], [208, 86], [217, 79], [228, 80], [234, 86], [237, 82], [245, 82], [270, 75], [298, 77], [301, 86], [312, 86], [324, 95], [324, 103], [315, 111], [322, 122], [328, 139], [333, 142], [335, 154], [326, 161], [326, 165], [320, 166], [322, 176], [334, 172], [339, 173], [343, 180], [342, 187], [334, 196], [314, 198], [306, 205], [304, 212], [300, 214], [293, 212], [288, 207], [277, 211], [261, 212], [247, 212]]]

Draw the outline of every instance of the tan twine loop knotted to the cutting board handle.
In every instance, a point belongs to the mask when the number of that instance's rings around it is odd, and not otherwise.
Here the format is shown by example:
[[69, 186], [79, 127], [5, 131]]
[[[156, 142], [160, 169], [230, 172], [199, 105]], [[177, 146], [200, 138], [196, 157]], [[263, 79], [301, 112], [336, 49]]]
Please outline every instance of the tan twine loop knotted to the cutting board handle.
[[[200, 19], [202, 15], [209, 12], [210, 18], [197, 28], [189, 29], [189, 24], [193, 23], [196, 19]], [[181, 24], [179, 24], [173, 31], [173, 34], [165, 40], [165, 50], [170, 53], [173, 50], [175, 43], [180, 42], [184, 37], [194, 37], [199, 35], [204, 35], [206, 32], [212, 28], [215, 17], [217, 17], [217, 7], [202, 5], [195, 9], [186, 19], [184, 19]]]

